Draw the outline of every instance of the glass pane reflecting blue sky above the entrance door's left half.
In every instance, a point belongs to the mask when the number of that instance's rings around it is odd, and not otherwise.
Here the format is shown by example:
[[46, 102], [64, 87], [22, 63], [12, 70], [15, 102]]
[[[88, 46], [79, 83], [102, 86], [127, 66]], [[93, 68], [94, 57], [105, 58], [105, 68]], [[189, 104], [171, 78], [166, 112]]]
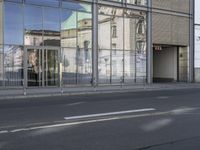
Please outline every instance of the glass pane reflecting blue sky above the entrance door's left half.
[[42, 41], [42, 8], [25, 6], [24, 10], [25, 45], [41, 46]]

